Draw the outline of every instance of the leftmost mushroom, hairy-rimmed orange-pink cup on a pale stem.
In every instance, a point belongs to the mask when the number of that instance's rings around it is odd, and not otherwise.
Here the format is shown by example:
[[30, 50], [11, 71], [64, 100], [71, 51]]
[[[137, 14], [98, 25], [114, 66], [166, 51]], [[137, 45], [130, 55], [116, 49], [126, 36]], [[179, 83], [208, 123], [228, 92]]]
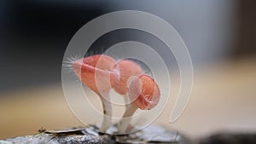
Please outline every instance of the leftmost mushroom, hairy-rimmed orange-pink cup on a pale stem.
[[112, 107], [109, 101], [109, 90], [111, 89], [110, 70], [115, 60], [108, 55], [92, 55], [73, 61], [73, 71], [83, 84], [96, 92], [102, 100], [103, 122], [100, 132], [106, 132], [111, 125]]

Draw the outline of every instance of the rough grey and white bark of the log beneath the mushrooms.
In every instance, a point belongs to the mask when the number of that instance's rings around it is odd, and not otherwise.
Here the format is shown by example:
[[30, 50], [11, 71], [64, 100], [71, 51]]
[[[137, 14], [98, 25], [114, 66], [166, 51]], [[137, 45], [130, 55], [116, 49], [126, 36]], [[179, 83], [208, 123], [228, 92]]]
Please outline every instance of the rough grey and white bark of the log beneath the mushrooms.
[[165, 130], [159, 126], [150, 126], [147, 129], [129, 135], [99, 134], [95, 126], [84, 129], [46, 131], [36, 135], [26, 135], [0, 141], [0, 144], [112, 144], [112, 143], [177, 143], [190, 142], [177, 131]]

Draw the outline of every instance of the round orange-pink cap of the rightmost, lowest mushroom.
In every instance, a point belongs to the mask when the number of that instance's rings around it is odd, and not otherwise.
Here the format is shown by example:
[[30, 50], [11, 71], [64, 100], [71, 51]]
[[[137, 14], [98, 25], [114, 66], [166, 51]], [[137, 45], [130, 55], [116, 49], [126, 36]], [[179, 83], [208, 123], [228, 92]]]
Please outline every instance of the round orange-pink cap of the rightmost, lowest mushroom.
[[130, 100], [140, 109], [150, 110], [160, 101], [158, 85], [146, 74], [130, 78], [128, 88]]

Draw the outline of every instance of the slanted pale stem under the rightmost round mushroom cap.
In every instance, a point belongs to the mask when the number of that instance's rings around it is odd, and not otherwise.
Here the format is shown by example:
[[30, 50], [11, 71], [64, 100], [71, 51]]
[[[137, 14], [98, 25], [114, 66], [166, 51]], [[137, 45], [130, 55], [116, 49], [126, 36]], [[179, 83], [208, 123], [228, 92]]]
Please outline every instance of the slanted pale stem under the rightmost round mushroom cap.
[[123, 115], [123, 118], [120, 120], [118, 124], [119, 134], [125, 133], [125, 131], [127, 130], [128, 124], [130, 124], [131, 122], [131, 116], [134, 114], [134, 112], [136, 112], [136, 110], [137, 110], [137, 106], [134, 105], [133, 103], [131, 103], [129, 105], [129, 108], [126, 109]]

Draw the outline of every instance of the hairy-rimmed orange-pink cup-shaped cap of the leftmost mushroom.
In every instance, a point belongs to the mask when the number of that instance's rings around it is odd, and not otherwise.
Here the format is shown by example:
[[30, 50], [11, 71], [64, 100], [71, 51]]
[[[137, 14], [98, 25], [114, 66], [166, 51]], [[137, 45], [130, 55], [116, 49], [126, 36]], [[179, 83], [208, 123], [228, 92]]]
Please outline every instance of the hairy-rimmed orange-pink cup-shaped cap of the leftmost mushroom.
[[110, 70], [115, 62], [108, 55], [92, 55], [73, 61], [73, 71], [83, 84], [100, 95], [111, 89]]

